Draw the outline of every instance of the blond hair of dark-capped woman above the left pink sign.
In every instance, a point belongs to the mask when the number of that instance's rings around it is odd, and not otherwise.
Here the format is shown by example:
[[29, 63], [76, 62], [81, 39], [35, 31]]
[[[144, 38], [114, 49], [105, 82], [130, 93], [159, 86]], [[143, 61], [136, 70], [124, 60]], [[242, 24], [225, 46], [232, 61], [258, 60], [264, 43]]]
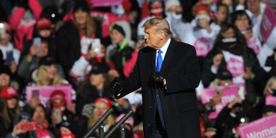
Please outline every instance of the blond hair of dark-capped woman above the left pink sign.
[[57, 73], [53, 80], [50, 81], [48, 84], [47, 81], [47, 68], [49, 66], [41, 65], [38, 69], [38, 72], [36, 74], [37, 76], [37, 86], [45, 86], [45, 85], [63, 85], [63, 79], [60, 77], [60, 75]]

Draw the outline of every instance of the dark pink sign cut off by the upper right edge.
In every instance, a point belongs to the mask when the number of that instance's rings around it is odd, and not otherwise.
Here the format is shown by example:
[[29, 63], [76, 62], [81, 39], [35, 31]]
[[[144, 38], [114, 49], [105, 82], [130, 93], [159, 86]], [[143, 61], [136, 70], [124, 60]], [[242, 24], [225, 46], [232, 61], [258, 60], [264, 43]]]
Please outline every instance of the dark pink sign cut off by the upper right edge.
[[270, 5], [267, 3], [267, 7], [264, 10], [264, 15], [262, 17], [262, 23], [260, 25], [261, 35], [264, 42], [267, 41], [271, 31], [276, 25], [276, 15]]

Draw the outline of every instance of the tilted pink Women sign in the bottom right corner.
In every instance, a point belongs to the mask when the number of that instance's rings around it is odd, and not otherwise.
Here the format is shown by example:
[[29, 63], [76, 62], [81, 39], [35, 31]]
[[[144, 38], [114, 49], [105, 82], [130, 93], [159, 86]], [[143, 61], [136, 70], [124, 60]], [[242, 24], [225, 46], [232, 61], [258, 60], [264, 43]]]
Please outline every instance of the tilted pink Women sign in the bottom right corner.
[[240, 126], [238, 131], [241, 138], [275, 138], [276, 114]]

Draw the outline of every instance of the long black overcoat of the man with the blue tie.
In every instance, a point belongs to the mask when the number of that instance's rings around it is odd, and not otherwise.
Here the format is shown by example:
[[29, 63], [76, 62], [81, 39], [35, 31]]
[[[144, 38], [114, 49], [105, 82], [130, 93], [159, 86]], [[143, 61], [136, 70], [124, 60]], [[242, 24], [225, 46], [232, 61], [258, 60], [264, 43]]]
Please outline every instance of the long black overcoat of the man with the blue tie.
[[[121, 98], [142, 87], [143, 131], [150, 137], [154, 117], [154, 82], [156, 50], [145, 47], [138, 52], [137, 62], [129, 78], [123, 81]], [[171, 39], [160, 73], [166, 88], [158, 87], [165, 127], [170, 138], [200, 138], [199, 111], [195, 88], [201, 79], [196, 50], [192, 45]]]

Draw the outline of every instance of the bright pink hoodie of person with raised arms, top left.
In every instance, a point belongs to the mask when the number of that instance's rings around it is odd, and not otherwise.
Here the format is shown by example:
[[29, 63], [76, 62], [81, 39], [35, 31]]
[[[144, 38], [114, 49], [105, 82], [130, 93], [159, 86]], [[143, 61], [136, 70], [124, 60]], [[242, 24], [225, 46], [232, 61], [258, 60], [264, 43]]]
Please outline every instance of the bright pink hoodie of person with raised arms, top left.
[[34, 19], [28, 21], [22, 20], [25, 13], [23, 7], [18, 7], [18, 9], [9, 16], [9, 24], [11, 25], [11, 29], [15, 31], [14, 46], [20, 51], [23, 51], [24, 43], [32, 39], [32, 32], [36, 20], [39, 19], [42, 12], [42, 7], [38, 0], [29, 0], [28, 5], [34, 14]]

